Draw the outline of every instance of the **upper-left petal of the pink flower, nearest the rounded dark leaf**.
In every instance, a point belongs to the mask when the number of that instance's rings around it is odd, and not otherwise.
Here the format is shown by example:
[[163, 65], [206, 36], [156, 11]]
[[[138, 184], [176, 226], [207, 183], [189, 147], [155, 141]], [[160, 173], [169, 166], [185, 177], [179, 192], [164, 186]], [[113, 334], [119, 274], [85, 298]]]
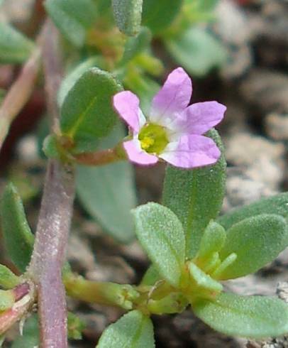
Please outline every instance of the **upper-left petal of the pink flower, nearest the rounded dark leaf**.
[[140, 127], [145, 124], [145, 117], [139, 107], [139, 99], [134, 93], [123, 91], [115, 94], [113, 106], [133, 131], [138, 132]]

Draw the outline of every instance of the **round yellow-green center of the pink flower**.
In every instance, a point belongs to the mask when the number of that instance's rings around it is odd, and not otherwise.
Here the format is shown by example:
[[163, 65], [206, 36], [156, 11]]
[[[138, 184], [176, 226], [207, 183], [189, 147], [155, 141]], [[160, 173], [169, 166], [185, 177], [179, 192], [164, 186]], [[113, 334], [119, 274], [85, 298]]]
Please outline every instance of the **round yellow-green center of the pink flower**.
[[162, 153], [169, 143], [166, 129], [159, 124], [145, 124], [140, 130], [138, 139], [143, 150], [157, 155]]

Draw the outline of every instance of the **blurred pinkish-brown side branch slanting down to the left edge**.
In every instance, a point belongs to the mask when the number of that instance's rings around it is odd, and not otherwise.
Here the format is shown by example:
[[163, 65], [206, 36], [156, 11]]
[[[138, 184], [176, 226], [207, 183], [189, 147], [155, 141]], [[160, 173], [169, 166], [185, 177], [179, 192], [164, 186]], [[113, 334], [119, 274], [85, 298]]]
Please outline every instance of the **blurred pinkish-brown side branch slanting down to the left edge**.
[[23, 66], [20, 75], [7, 92], [0, 107], [0, 150], [9, 132], [12, 121], [21, 112], [34, 89], [40, 69], [41, 52], [35, 48]]

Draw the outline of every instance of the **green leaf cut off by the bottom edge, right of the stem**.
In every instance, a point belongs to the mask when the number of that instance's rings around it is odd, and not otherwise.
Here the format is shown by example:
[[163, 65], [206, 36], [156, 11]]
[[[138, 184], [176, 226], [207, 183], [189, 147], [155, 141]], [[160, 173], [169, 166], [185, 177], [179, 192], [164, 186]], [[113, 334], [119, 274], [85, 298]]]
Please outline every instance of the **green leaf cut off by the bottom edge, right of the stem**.
[[138, 310], [107, 327], [96, 348], [153, 348], [153, 323]]

